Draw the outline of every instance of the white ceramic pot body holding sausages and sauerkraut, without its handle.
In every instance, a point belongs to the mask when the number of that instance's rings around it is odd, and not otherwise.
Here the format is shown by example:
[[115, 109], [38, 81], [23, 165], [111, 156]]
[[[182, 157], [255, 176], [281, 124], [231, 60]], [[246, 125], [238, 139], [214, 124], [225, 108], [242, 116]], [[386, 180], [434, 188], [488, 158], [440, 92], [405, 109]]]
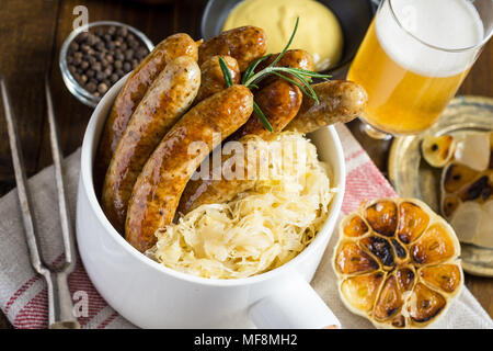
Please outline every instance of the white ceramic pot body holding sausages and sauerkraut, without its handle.
[[[122, 316], [144, 328], [321, 328], [339, 325], [307, 283], [322, 258], [344, 196], [345, 169], [333, 127], [310, 135], [339, 186], [316, 239], [290, 262], [263, 274], [211, 280], [173, 271], [134, 249], [112, 227], [96, 200], [92, 166], [104, 121], [126, 78], [98, 104], [82, 144], [77, 240], [88, 274]], [[253, 322], [253, 324], [252, 324]]]

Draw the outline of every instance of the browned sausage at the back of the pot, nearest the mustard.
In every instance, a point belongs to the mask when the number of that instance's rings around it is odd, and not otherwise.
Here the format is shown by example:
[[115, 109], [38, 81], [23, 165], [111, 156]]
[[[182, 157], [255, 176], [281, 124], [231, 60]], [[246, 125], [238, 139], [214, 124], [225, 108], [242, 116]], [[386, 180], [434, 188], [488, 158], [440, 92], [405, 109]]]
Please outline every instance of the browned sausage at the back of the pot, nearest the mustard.
[[220, 33], [198, 47], [198, 64], [202, 66], [213, 56], [231, 56], [238, 60], [240, 71], [267, 50], [265, 32], [248, 25]]

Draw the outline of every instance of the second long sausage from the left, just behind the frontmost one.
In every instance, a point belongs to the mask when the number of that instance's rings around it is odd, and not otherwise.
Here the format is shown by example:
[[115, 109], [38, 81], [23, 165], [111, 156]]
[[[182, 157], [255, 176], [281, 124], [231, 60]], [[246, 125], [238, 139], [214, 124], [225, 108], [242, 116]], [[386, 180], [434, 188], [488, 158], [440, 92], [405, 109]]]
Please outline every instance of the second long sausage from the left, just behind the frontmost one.
[[103, 186], [102, 206], [123, 234], [128, 200], [144, 165], [173, 124], [186, 112], [200, 86], [200, 70], [190, 56], [167, 65], [134, 112], [113, 155]]

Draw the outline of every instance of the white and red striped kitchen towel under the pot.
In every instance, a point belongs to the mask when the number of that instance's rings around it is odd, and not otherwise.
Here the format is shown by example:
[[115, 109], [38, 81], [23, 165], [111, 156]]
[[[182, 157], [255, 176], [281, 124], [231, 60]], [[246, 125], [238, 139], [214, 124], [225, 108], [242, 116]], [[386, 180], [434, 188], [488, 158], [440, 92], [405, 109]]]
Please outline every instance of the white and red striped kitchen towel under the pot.
[[[395, 196], [393, 189], [371, 162], [368, 155], [344, 125], [339, 125], [347, 170], [343, 212], [357, 208], [363, 200]], [[80, 149], [65, 161], [66, 183], [71, 218], [76, 218], [76, 193], [79, 180]], [[37, 229], [46, 262], [62, 261], [62, 247], [53, 167], [30, 179]], [[326, 253], [312, 281], [345, 328], [371, 328], [364, 318], [351, 314], [341, 303], [330, 259], [337, 234], [331, 238]], [[87, 302], [78, 309], [82, 328], [135, 328], [99, 295], [79, 261], [69, 278], [74, 302]], [[82, 306], [82, 305], [81, 305]], [[15, 328], [47, 327], [46, 285], [30, 264], [21, 212], [15, 190], [0, 199], [0, 307]], [[465, 288], [440, 321], [444, 328], [493, 328], [493, 322], [471, 293]]]

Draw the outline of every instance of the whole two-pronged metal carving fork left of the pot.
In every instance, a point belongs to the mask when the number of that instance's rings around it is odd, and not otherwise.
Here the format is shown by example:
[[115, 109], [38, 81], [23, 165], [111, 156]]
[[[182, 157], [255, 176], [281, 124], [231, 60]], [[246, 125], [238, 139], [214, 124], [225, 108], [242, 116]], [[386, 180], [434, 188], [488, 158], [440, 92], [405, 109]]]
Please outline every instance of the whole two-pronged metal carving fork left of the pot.
[[53, 270], [45, 264], [39, 251], [39, 240], [35, 228], [34, 212], [28, 185], [25, 177], [22, 148], [16, 131], [15, 117], [12, 112], [5, 80], [0, 77], [0, 88], [5, 111], [7, 128], [9, 133], [10, 150], [18, 185], [19, 202], [21, 205], [24, 231], [27, 248], [31, 256], [31, 264], [34, 270], [43, 275], [48, 288], [48, 326], [50, 329], [79, 329], [80, 325], [73, 315], [73, 304], [68, 287], [68, 275], [76, 265], [76, 247], [72, 225], [69, 218], [67, 197], [65, 193], [61, 151], [58, 143], [58, 132], [55, 123], [51, 92], [49, 81], [45, 79], [46, 105], [48, 111], [49, 140], [51, 144], [51, 157], [55, 165], [55, 180], [58, 194], [58, 210], [61, 223], [61, 238], [65, 249], [65, 264], [59, 270]]

